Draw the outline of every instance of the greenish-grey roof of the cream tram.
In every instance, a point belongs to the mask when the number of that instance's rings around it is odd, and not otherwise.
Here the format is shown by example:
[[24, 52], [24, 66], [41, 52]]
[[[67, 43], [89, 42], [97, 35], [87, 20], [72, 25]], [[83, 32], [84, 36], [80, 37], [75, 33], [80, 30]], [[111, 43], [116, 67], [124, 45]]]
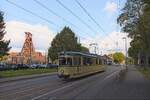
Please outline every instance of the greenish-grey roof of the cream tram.
[[98, 57], [97, 54], [75, 52], [75, 51], [63, 51], [63, 52], [60, 52], [59, 55], [70, 55], [70, 56], [80, 55], [80, 56], [88, 56], [88, 57]]

